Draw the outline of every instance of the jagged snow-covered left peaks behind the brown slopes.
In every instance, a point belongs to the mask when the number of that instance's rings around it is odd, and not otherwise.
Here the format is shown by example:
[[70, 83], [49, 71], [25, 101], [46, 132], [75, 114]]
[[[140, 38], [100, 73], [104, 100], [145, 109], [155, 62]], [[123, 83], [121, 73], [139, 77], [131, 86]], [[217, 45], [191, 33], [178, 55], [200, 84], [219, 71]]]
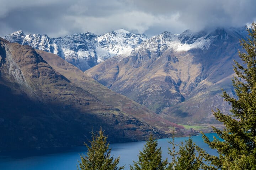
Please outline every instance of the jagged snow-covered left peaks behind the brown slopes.
[[4, 39], [57, 54], [85, 71], [108, 58], [130, 52], [148, 38], [144, 34], [136, 35], [119, 29], [103, 35], [87, 32], [67, 35], [64, 38], [49, 38], [40, 34], [25, 35], [22, 31], [17, 31], [6, 35]]

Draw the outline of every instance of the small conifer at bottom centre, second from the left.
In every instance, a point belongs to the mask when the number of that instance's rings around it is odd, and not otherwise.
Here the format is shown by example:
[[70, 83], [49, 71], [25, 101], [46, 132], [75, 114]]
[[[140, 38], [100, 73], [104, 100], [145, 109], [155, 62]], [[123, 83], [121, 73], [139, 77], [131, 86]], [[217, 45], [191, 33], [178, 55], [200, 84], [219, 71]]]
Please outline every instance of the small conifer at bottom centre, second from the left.
[[133, 161], [134, 165], [130, 165], [130, 170], [164, 170], [166, 168], [167, 159], [162, 161], [161, 147], [158, 148], [158, 142], [154, 140], [152, 134], [138, 157], [138, 162]]

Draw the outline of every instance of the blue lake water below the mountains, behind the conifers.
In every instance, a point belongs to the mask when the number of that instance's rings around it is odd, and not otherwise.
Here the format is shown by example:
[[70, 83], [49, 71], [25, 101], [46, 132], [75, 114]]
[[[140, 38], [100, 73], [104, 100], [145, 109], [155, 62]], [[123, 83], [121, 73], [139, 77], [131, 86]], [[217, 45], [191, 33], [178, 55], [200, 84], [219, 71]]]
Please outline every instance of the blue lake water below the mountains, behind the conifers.
[[[216, 134], [206, 134], [210, 140]], [[175, 137], [175, 143], [179, 144], [181, 141], [187, 140], [188, 137]], [[210, 149], [202, 140], [202, 135], [193, 136], [193, 141], [208, 153], [217, 155], [217, 153]], [[158, 140], [158, 146], [162, 148], [162, 158], [168, 158], [168, 143], [172, 138], [164, 138]], [[125, 165], [125, 170], [129, 169], [129, 165], [133, 164], [133, 160], [138, 160], [139, 151], [142, 151], [145, 141], [129, 142], [129, 143], [113, 143], [111, 155], [114, 157], [120, 156], [119, 165]], [[177, 148], [178, 149], [178, 148]], [[86, 147], [71, 147], [58, 149], [41, 149], [26, 152], [9, 152], [0, 153], [0, 169], [1, 170], [76, 170], [79, 154], [86, 154]]]

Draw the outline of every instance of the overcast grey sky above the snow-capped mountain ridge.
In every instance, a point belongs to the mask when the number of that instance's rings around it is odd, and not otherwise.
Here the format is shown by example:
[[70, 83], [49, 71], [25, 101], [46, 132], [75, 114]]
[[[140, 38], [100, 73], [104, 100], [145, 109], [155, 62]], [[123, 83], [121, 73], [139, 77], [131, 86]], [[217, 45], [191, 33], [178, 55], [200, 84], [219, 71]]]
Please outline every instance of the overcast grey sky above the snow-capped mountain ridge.
[[255, 0], [0, 0], [0, 37], [17, 30], [56, 38], [120, 28], [151, 37], [253, 21]]

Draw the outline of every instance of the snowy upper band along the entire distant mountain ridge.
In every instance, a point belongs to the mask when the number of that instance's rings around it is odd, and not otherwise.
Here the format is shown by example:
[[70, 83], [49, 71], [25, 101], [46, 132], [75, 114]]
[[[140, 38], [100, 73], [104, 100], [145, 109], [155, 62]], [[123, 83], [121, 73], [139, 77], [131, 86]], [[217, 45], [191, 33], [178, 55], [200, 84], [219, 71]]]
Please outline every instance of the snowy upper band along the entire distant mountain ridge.
[[241, 34], [246, 34], [244, 32], [244, 28], [219, 28], [196, 33], [186, 30], [182, 34], [165, 31], [148, 39], [145, 34], [133, 34], [124, 29], [113, 30], [103, 35], [91, 32], [77, 33], [63, 38], [49, 38], [40, 34], [24, 35], [22, 31], [17, 31], [6, 35], [5, 39], [57, 54], [84, 71], [108, 58], [129, 55], [133, 50], [140, 48], [157, 55], [167, 49], [177, 52], [191, 49], [204, 51], [217, 41], [224, 43], [229, 36], [239, 38]]

